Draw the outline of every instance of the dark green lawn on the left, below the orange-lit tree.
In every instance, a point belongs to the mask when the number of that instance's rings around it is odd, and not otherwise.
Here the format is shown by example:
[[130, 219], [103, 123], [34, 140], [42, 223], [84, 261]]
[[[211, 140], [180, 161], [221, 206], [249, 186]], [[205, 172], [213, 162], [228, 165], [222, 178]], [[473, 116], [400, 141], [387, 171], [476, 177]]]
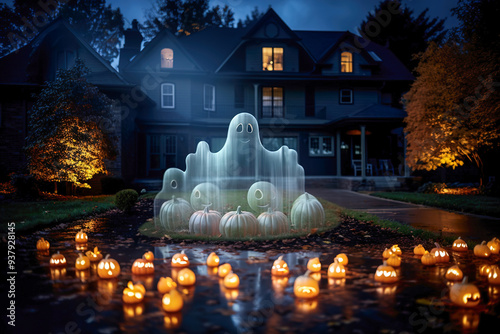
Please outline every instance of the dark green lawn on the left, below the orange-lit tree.
[[26, 231], [38, 225], [74, 220], [115, 207], [115, 196], [86, 196], [67, 200], [0, 202], [0, 231], [8, 222], [16, 223], [16, 231]]

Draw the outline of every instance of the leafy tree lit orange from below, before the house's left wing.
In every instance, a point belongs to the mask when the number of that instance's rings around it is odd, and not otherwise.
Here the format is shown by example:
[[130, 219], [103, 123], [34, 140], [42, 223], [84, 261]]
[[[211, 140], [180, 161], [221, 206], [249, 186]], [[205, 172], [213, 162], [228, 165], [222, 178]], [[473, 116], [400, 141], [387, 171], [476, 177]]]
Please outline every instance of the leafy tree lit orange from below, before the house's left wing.
[[[87, 82], [89, 70], [77, 59], [47, 82], [30, 112], [27, 157], [30, 174], [49, 182], [85, 181], [106, 173], [104, 159], [115, 157], [111, 100]], [[57, 188], [56, 188], [57, 189]]]

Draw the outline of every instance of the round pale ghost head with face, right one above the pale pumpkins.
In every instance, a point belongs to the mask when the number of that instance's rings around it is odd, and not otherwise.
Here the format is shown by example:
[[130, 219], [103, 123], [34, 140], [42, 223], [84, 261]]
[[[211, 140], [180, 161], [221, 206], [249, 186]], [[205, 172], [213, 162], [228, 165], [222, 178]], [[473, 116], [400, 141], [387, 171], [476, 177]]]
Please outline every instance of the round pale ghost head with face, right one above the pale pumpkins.
[[256, 212], [274, 210], [282, 205], [278, 190], [272, 183], [266, 181], [255, 182], [250, 186], [247, 201], [250, 208]]

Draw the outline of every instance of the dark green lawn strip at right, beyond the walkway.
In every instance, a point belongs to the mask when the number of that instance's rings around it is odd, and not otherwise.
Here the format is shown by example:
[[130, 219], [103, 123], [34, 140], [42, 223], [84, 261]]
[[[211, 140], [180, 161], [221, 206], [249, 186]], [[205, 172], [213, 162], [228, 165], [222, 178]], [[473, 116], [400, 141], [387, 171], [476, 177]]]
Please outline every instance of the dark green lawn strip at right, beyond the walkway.
[[479, 195], [422, 194], [410, 192], [378, 192], [372, 193], [371, 195], [458, 212], [500, 217], [500, 198], [498, 197]]

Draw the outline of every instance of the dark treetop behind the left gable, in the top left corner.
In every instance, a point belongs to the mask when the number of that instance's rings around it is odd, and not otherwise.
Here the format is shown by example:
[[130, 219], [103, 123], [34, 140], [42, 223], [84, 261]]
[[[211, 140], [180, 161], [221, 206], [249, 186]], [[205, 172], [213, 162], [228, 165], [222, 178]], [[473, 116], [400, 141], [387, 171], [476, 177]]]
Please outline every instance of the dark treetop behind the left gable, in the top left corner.
[[123, 16], [105, 0], [69, 0], [62, 2], [15, 0], [14, 10], [0, 7], [0, 54], [14, 51], [33, 39], [51, 20], [65, 18], [104, 59], [118, 56], [123, 37]]

